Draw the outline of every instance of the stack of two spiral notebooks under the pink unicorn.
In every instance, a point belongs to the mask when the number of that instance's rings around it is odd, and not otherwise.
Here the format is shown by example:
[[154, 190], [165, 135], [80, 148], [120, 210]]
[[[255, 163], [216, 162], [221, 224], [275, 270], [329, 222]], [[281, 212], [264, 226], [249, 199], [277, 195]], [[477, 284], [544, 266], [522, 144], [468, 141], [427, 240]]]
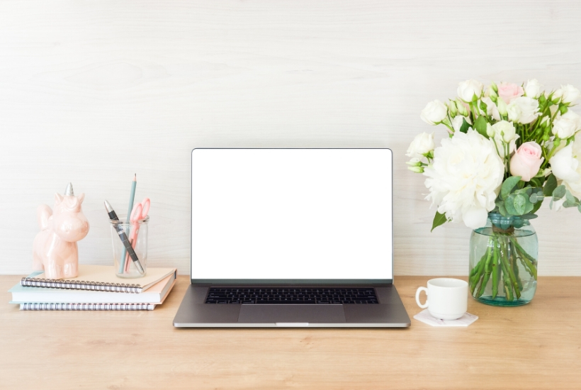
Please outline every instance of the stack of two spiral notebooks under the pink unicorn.
[[72, 279], [43, 279], [33, 272], [13, 286], [21, 310], [153, 310], [176, 283], [175, 268], [147, 268], [145, 277], [119, 279], [106, 265], [79, 264]]

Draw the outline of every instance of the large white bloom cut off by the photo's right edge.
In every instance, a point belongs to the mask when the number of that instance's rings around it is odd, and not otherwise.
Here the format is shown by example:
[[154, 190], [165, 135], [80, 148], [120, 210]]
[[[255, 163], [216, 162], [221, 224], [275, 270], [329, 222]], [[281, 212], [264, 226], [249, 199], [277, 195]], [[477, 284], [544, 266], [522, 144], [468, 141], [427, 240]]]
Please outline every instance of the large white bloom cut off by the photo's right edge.
[[581, 197], [581, 141], [563, 147], [548, 162], [555, 177], [563, 180], [571, 194]]

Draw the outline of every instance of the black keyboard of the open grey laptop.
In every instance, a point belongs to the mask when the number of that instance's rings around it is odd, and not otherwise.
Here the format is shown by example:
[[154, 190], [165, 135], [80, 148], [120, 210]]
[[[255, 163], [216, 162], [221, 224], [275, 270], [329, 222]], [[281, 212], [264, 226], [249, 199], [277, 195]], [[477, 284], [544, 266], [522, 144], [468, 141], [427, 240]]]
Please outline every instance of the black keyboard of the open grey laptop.
[[378, 303], [373, 288], [270, 288], [249, 289], [247, 287], [210, 287], [205, 303], [237, 304], [344, 304]]

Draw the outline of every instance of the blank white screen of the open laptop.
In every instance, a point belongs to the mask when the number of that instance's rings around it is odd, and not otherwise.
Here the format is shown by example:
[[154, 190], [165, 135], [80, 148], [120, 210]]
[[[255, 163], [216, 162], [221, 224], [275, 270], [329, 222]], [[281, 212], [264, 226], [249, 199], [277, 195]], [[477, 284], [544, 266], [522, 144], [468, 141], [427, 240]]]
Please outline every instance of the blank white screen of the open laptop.
[[389, 149], [194, 149], [193, 282], [393, 279]]

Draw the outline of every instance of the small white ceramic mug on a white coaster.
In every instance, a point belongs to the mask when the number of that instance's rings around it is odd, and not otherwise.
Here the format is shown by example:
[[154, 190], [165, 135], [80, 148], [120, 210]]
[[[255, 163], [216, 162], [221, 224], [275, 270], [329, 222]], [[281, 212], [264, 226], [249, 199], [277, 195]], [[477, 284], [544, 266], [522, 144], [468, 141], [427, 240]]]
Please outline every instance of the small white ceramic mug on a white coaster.
[[[426, 291], [426, 303], [419, 303], [419, 293]], [[416, 303], [421, 308], [428, 308], [431, 316], [441, 320], [456, 320], [466, 313], [468, 308], [468, 282], [461, 279], [437, 278], [428, 281], [428, 288], [419, 287], [416, 291]]]

